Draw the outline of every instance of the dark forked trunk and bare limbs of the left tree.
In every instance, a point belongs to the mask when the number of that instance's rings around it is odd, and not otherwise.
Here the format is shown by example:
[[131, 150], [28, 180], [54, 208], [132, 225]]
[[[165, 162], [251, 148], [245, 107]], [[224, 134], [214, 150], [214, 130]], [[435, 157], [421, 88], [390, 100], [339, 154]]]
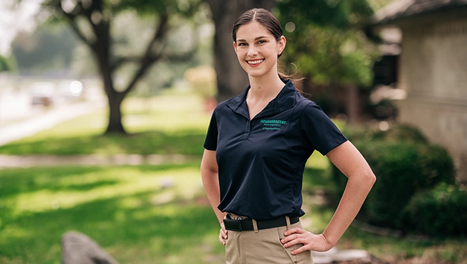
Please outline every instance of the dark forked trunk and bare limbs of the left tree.
[[[74, 6], [70, 9], [70, 5], [67, 5], [67, 11], [63, 9], [61, 0], [49, 0], [44, 4], [51, 6], [53, 9], [58, 11], [59, 16], [64, 16], [70, 24], [71, 28], [75, 31], [78, 38], [85, 43], [93, 52], [95, 59], [97, 60], [100, 77], [103, 80], [105, 94], [109, 102], [109, 122], [105, 134], [109, 133], [120, 133], [126, 134], [125, 129], [122, 126], [122, 112], [120, 106], [122, 105], [123, 98], [125, 95], [135, 88], [136, 83], [142, 78], [147, 72], [149, 67], [154, 64], [157, 60], [164, 57], [163, 44], [165, 34], [169, 28], [169, 14], [167, 9], [161, 10], [157, 17], [157, 26], [154, 28], [154, 36], [147, 43], [146, 51], [140, 58], [120, 56], [111, 59], [110, 49], [112, 47], [112, 37], [110, 36], [110, 24], [112, 22], [112, 12], [119, 10], [116, 8], [118, 4], [108, 4], [104, 0], [93, 0], [85, 4], [85, 1], [74, 1]], [[117, 1], [119, 2], [119, 1]], [[136, 1], [135, 7], [140, 6], [140, 9], [144, 9], [143, 6], [147, 4], [147, 1]], [[70, 3], [68, 3], [70, 4]], [[129, 8], [127, 4], [123, 4], [124, 8]], [[98, 14], [98, 16], [95, 16]], [[104, 16], [103, 16], [104, 15]], [[93, 19], [94, 18], [94, 19]], [[89, 34], [84, 33], [85, 30], [80, 28], [78, 21], [88, 21], [88, 26], [93, 31], [93, 37], [88, 37]], [[84, 19], [84, 20], [83, 20]], [[87, 28], [89, 30], [89, 28]], [[159, 48], [154, 48], [154, 47]], [[157, 50], [157, 51], [154, 51]], [[170, 57], [170, 56], [169, 56]], [[127, 85], [122, 92], [117, 92], [114, 88], [112, 81], [112, 73], [116, 68], [120, 67], [124, 63], [139, 61], [140, 67], [135, 71], [130, 83]], [[0, 61], [1, 63], [1, 61]]]

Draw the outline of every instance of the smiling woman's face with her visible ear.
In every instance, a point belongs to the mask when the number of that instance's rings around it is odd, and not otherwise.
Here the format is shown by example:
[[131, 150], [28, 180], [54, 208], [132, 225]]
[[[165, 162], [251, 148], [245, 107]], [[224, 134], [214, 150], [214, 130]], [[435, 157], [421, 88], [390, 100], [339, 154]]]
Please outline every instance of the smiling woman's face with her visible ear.
[[252, 21], [238, 28], [234, 49], [243, 70], [249, 76], [269, 77], [277, 75], [278, 55], [285, 48], [285, 37], [279, 41], [266, 27]]

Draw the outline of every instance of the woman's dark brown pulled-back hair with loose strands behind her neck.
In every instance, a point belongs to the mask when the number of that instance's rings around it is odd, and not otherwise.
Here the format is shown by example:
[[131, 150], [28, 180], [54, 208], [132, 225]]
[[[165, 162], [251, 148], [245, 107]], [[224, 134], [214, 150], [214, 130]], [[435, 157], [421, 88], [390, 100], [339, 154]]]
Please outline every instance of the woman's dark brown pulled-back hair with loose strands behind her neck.
[[[280, 41], [280, 37], [283, 35], [282, 26], [280, 26], [279, 21], [276, 19], [276, 16], [271, 14], [270, 11], [266, 9], [250, 9], [245, 13], [241, 14], [238, 19], [234, 23], [234, 28], [232, 29], [232, 38], [234, 41], [237, 41], [237, 31], [243, 25], [247, 23], [251, 23], [253, 21], [257, 21], [262, 26], [268, 29], [268, 31], [274, 36], [276, 41]], [[280, 53], [278, 58], [282, 55]], [[292, 78], [293, 75], [286, 75], [284, 73], [279, 72], [279, 78], [282, 80], [287, 80]], [[303, 80], [302, 78], [293, 80], [295, 84], [298, 85], [298, 81]]]

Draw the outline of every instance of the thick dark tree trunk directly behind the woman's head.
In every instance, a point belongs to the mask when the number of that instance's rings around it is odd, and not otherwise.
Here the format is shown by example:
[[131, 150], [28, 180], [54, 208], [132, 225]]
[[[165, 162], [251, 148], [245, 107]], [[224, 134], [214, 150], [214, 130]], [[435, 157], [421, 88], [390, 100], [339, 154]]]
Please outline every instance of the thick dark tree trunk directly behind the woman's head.
[[238, 16], [248, 9], [271, 10], [276, 0], [208, 0], [216, 26], [214, 36], [214, 70], [217, 74], [219, 102], [240, 94], [248, 86], [248, 75], [238, 63], [232, 46], [232, 28]]

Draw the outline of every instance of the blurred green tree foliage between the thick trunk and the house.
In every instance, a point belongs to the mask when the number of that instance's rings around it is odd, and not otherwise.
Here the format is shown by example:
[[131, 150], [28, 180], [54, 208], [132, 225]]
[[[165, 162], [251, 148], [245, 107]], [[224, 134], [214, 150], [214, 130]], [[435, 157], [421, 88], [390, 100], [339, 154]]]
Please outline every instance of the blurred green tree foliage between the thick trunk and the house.
[[355, 122], [362, 105], [358, 85], [372, 83], [375, 49], [361, 29], [372, 8], [366, 0], [283, 0], [276, 7], [288, 39], [285, 68], [298, 65], [308, 93], [311, 86], [324, 86], [328, 96], [320, 105], [329, 105], [330, 112], [337, 112], [335, 100], [345, 94], [347, 117]]

